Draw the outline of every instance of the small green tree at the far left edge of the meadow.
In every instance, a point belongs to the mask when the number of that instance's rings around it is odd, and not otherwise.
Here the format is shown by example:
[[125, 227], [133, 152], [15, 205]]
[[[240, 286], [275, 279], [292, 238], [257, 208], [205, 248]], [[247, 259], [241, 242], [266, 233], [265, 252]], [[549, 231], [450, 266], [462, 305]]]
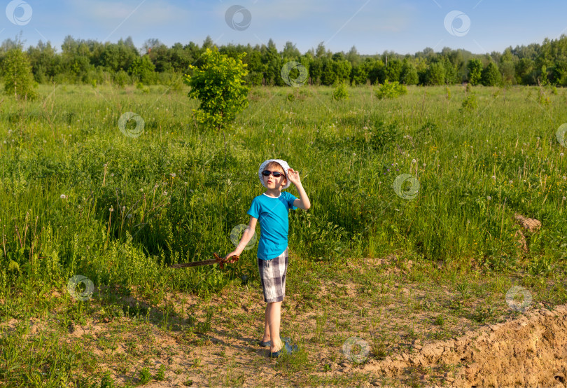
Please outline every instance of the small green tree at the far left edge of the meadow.
[[35, 99], [37, 92], [34, 75], [22, 45], [8, 50], [3, 61], [4, 91], [16, 98]]

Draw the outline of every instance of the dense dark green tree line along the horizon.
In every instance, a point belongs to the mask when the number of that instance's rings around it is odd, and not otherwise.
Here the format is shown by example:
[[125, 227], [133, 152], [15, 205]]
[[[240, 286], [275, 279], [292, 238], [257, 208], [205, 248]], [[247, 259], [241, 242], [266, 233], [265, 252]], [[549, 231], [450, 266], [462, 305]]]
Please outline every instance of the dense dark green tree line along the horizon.
[[[37, 83], [172, 84], [182, 74], [190, 74], [191, 66], [200, 67], [203, 53], [213, 46], [210, 36], [201, 46], [190, 42], [168, 47], [158, 39], [148, 39], [140, 50], [131, 37], [101, 43], [66, 36], [60, 52], [50, 42], [39, 41], [27, 48], [25, 56]], [[22, 50], [18, 38], [6, 39], [0, 46], [2, 71], [10, 50]], [[323, 43], [301, 54], [290, 41], [278, 50], [272, 39], [267, 45], [228, 44], [218, 50], [233, 58], [246, 53], [242, 61], [247, 64], [246, 82], [251, 85], [286, 85], [281, 69], [290, 61], [300, 62], [309, 73], [308, 82], [315, 85], [385, 81], [405, 85], [567, 85], [566, 35], [484, 55], [447, 47], [437, 53], [426, 48], [414, 55], [393, 51], [361, 55], [355, 46], [348, 53], [332, 53]]]

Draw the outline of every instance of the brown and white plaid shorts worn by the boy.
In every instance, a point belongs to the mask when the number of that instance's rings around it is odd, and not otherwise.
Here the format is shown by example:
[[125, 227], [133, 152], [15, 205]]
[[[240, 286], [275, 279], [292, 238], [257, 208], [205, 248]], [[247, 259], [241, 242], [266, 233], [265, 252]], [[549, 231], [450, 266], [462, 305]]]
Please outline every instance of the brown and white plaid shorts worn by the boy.
[[281, 255], [271, 260], [258, 258], [258, 272], [266, 303], [281, 302], [286, 296], [286, 274], [288, 272], [288, 247]]

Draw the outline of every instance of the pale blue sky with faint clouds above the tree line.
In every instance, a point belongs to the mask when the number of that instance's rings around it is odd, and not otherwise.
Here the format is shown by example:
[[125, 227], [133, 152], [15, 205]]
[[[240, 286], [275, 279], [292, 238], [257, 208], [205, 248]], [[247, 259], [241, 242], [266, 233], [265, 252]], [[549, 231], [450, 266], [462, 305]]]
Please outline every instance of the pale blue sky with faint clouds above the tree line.
[[[321, 42], [332, 52], [356, 46], [361, 54], [413, 54], [426, 47], [490, 53], [567, 34], [565, 0], [14, 1], [3, 0], [7, 11], [0, 15], [0, 40], [22, 32], [26, 46], [50, 41], [59, 51], [67, 35], [103, 42], [132, 36], [138, 48], [151, 38], [167, 46], [189, 41], [201, 45], [209, 35], [219, 45], [273, 39], [279, 50], [291, 41], [301, 53]], [[246, 28], [233, 29], [226, 22], [234, 5], [251, 15]], [[451, 11], [460, 13], [454, 13], [458, 17], [446, 28]], [[230, 20], [246, 25], [244, 13]]]

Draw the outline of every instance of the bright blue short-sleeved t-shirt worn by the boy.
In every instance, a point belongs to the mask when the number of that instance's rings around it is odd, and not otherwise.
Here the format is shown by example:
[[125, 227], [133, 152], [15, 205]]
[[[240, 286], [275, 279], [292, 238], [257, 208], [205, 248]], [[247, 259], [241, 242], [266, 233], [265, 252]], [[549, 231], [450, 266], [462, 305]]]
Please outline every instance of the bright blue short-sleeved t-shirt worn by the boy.
[[258, 258], [272, 260], [288, 247], [289, 209], [295, 210], [294, 195], [282, 191], [278, 198], [266, 193], [254, 197], [252, 205], [246, 214], [260, 221], [260, 242], [258, 243]]

